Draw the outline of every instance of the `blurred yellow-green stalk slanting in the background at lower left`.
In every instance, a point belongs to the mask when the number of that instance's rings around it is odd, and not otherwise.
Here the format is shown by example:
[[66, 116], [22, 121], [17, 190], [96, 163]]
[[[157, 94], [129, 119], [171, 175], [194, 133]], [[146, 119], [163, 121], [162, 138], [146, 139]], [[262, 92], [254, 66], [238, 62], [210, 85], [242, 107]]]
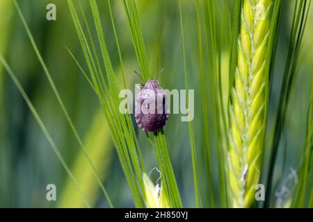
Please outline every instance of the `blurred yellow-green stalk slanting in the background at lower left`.
[[[93, 121], [88, 127], [84, 144], [93, 160], [101, 180], [108, 180], [108, 170], [110, 169], [113, 154], [113, 144], [109, 133], [108, 124], [104, 121], [102, 110], [95, 112]], [[83, 193], [88, 198], [90, 205], [96, 205], [99, 199], [99, 186], [97, 179], [93, 176], [93, 169], [88, 166], [88, 161], [80, 149], [74, 157], [71, 171], [77, 179]], [[58, 200], [57, 207], [83, 207], [81, 196], [73, 189], [72, 181], [69, 178], [62, 187], [61, 198]]]

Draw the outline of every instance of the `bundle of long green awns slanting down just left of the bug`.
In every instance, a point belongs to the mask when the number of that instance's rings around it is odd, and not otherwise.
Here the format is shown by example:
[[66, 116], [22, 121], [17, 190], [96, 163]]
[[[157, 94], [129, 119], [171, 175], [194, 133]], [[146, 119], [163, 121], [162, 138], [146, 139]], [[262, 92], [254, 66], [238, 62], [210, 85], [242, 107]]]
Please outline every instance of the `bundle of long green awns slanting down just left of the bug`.
[[[128, 114], [123, 115], [119, 112], [120, 99], [118, 94], [120, 93], [118, 83], [111, 65], [109, 53], [106, 49], [106, 43], [104, 40], [102, 24], [99, 17], [99, 10], [97, 8], [96, 1], [90, 0], [90, 8], [92, 10], [93, 21], [97, 32], [97, 40], [100, 45], [100, 51], [102, 56], [102, 62], [104, 65], [105, 73], [102, 71], [102, 67], [99, 65], [99, 58], [97, 56], [97, 50], [92, 35], [90, 34], [90, 28], [86, 22], [86, 17], [83, 13], [83, 20], [86, 24], [87, 34], [89, 42], [86, 37], [86, 33], [83, 30], [77, 11], [71, 0], [67, 1], [74, 26], [77, 30], [79, 41], [81, 42], [81, 49], [86, 59], [89, 73], [95, 88], [95, 92], [99, 97], [99, 101], [102, 104], [104, 116], [109, 124], [113, 143], [118, 157], [122, 165], [122, 169], [125, 173], [125, 177], [131, 189], [136, 207], [144, 207], [142, 194], [144, 193], [142, 173], [144, 171], [143, 162], [141, 158], [140, 149], [136, 142], [136, 135], [134, 135], [134, 126], [131, 122]], [[91, 48], [90, 48], [91, 44]], [[138, 181], [138, 183], [137, 183]], [[138, 186], [139, 185], [139, 186]]]

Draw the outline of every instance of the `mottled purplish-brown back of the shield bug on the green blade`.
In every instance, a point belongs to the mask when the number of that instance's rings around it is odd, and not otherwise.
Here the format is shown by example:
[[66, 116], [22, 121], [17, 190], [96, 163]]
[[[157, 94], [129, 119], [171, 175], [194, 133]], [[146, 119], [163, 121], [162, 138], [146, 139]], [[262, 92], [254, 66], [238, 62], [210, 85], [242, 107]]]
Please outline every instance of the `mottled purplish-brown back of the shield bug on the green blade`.
[[156, 131], [168, 121], [168, 95], [158, 81], [148, 80], [136, 95], [135, 119], [145, 131]]

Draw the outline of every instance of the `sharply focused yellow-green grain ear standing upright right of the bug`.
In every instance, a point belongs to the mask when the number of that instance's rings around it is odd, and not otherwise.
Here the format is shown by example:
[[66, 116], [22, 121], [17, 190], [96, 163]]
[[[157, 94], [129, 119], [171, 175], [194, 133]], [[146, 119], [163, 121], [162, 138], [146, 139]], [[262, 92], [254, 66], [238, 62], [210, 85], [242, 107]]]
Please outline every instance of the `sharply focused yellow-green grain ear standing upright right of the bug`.
[[227, 171], [232, 207], [250, 207], [259, 181], [271, 5], [271, 0], [244, 0], [241, 6], [237, 65], [229, 105]]

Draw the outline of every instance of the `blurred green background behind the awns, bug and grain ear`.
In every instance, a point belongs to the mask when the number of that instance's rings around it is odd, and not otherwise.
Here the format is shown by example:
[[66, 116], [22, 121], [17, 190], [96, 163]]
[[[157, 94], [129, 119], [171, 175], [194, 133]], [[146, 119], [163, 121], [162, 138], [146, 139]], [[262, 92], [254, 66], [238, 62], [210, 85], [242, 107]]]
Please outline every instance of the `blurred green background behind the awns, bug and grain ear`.
[[[218, 3], [220, 1], [216, 1]], [[275, 69], [271, 87], [269, 105], [267, 138], [273, 132], [273, 114], [278, 105], [278, 95], [282, 81], [282, 72], [289, 44], [291, 26], [291, 0], [284, 3], [278, 49], [275, 56]], [[86, 69], [77, 33], [72, 24], [72, 18], [64, 0], [28, 0], [18, 1], [26, 17], [35, 42], [38, 44], [52, 78], [56, 83], [65, 106], [74, 121], [79, 135], [83, 138], [88, 151], [104, 182], [115, 207], [134, 207], [125, 176], [115, 153], [106, 121], [102, 115], [97, 96], [79, 71], [79, 68], [67, 52], [67, 46], [78, 58], [83, 69]], [[56, 21], [47, 21], [47, 3], [56, 4]], [[88, 2], [82, 1], [86, 7], [88, 21], [91, 20]], [[184, 89], [184, 67], [182, 58], [182, 42], [179, 27], [179, 10], [177, 1], [136, 1], [143, 37], [154, 75], [165, 67], [159, 78], [161, 87], [166, 89]], [[230, 9], [234, 1], [230, 1]], [[104, 26], [106, 44], [111, 56], [111, 62], [121, 77], [118, 51], [106, 1], [98, 1]], [[122, 58], [125, 66], [127, 85], [134, 90], [134, 83], [141, 83], [134, 74], [138, 70], [131, 35], [125, 19], [121, 1], [111, 1], [117, 34], [120, 41]], [[182, 1], [184, 13], [184, 30], [187, 56], [189, 87], [195, 89], [195, 139], [200, 149], [203, 144], [201, 117], [198, 39], [194, 1]], [[312, 6], [311, 6], [312, 12]], [[222, 8], [216, 20], [223, 18]], [[231, 26], [232, 15], [227, 16]], [[290, 167], [298, 165], [298, 155], [305, 137], [307, 105], [312, 93], [313, 71], [313, 26], [312, 13], [301, 51], [301, 63], [298, 67], [298, 78], [294, 82], [291, 99], [287, 110], [287, 121], [280, 142], [280, 153], [276, 166], [278, 185], [281, 178], [288, 175]], [[227, 27], [224, 38], [219, 38], [223, 45], [223, 71], [225, 71], [225, 88], [227, 90], [227, 64], [230, 36]], [[65, 161], [70, 165], [77, 180], [94, 207], [109, 207], [102, 195], [90, 166], [83, 156], [79, 144], [70, 130], [64, 114], [47, 81], [44, 71], [33, 51], [31, 42], [26, 35], [14, 3], [11, 0], [0, 0], [0, 52], [5, 56], [17, 78], [21, 81], [26, 93], [45, 122]], [[224, 55], [225, 54], [225, 55]], [[122, 78], [120, 78], [122, 80]], [[209, 112], [212, 132], [213, 117]], [[157, 167], [154, 152], [145, 133], [138, 130], [138, 138], [143, 151], [145, 168]], [[179, 191], [184, 207], [194, 207], [191, 153], [188, 137], [188, 123], [180, 121], [179, 114], [172, 114], [165, 127], [170, 157], [172, 160]], [[215, 151], [214, 137], [210, 143]], [[269, 148], [270, 146], [266, 146]], [[286, 166], [282, 167], [284, 148], [287, 148]], [[214, 181], [217, 181], [216, 153], [212, 153], [214, 165]], [[204, 155], [199, 155], [203, 163]], [[201, 168], [201, 167], [200, 167]], [[157, 178], [157, 175], [155, 176]], [[206, 199], [207, 189], [205, 175], [202, 173], [202, 195]], [[155, 181], [155, 180], [154, 180]], [[56, 185], [57, 200], [46, 200], [46, 186]], [[218, 196], [216, 186], [216, 196]], [[205, 203], [205, 202], [204, 202]], [[80, 194], [69, 180], [65, 170], [51, 149], [46, 137], [38, 127], [29, 108], [19, 94], [12, 80], [0, 65], [0, 207], [84, 207]]]

